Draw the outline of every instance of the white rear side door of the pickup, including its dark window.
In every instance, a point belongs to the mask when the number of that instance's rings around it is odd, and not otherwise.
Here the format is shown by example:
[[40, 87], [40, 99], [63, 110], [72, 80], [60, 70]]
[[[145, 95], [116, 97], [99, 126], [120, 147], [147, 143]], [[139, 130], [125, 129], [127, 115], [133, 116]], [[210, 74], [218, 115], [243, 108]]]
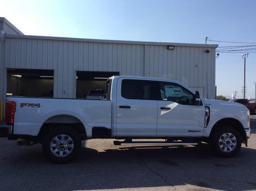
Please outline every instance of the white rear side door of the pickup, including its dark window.
[[153, 95], [154, 80], [117, 81], [116, 135], [156, 136], [157, 103]]

